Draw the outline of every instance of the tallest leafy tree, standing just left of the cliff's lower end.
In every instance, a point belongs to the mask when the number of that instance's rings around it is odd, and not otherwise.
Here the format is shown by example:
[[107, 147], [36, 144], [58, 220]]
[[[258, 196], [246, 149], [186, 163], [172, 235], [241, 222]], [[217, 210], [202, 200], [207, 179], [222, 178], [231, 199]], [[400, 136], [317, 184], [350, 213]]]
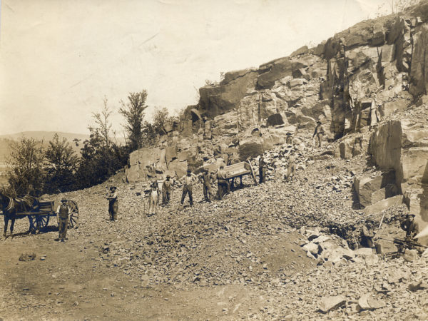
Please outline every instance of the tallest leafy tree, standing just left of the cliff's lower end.
[[136, 151], [143, 146], [143, 118], [146, 105], [147, 91], [129, 93], [128, 103], [121, 101], [119, 113], [125, 118], [123, 126], [128, 133], [130, 151]]

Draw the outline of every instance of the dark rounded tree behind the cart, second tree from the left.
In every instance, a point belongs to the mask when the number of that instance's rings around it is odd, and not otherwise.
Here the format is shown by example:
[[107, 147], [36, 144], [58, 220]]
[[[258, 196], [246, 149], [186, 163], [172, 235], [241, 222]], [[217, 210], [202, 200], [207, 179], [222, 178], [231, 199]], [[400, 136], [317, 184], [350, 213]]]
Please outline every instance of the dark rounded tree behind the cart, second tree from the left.
[[70, 143], [66, 138], [60, 140], [58, 134], [55, 133], [54, 140], [49, 141], [46, 150], [46, 192], [71, 190], [77, 163], [78, 157], [74, 155]]

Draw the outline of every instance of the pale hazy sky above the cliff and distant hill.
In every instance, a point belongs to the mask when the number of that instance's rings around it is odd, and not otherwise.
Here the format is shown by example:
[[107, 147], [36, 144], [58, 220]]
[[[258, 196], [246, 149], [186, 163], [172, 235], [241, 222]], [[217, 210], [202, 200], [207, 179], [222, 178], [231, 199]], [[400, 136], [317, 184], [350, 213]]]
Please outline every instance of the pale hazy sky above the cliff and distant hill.
[[0, 0], [0, 134], [88, 133], [148, 91], [171, 112], [205, 79], [259, 66], [374, 16], [384, 0]]

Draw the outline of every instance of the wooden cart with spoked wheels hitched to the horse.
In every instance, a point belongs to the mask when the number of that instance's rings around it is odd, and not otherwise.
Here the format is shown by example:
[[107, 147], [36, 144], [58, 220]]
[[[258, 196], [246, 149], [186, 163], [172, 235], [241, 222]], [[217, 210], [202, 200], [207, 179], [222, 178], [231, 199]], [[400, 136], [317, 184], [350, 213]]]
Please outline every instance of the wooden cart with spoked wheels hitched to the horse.
[[[78, 205], [74, 200], [68, 200], [67, 205], [70, 206], [70, 216], [68, 220], [68, 228], [78, 228]], [[49, 218], [56, 217], [56, 209], [53, 201], [40, 201], [39, 206], [28, 212], [16, 212], [16, 218], [29, 218], [29, 230], [43, 230], [49, 225]]]

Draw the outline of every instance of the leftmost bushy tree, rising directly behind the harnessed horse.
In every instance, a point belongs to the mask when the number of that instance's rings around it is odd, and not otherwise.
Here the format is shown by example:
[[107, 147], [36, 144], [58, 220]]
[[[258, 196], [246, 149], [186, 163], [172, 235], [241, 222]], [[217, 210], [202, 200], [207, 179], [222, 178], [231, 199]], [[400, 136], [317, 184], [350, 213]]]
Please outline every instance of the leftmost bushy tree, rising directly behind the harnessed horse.
[[9, 148], [11, 170], [8, 180], [14, 196], [39, 195], [44, 189], [45, 179], [42, 142], [23, 137], [19, 142], [12, 142]]

